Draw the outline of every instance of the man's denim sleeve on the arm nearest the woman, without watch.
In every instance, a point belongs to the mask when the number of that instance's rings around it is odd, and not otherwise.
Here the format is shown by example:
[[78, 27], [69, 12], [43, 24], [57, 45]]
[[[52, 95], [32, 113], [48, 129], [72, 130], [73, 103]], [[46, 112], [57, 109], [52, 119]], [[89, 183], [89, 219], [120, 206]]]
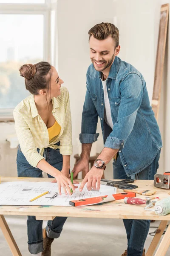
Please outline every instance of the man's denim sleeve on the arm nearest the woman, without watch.
[[82, 129], [81, 134], [79, 134], [79, 140], [81, 143], [94, 143], [99, 136], [99, 134], [96, 133], [98, 113], [91, 99], [88, 84], [86, 84], [86, 88], [85, 102], [82, 111]]

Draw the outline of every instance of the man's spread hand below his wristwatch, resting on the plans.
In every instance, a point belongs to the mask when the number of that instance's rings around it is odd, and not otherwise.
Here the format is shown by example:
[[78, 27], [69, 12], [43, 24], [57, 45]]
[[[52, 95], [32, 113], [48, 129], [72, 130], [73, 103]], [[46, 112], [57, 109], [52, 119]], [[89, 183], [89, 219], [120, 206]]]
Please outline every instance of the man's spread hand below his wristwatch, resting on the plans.
[[[82, 184], [79, 188], [79, 191], [82, 191], [82, 189], [85, 186], [85, 183], [87, 182], [87, 189], [90, 191], [91, 188], [94, 190], [99, 190], [100, 189], [100, 180], [103, 175], [103, 169], [96, 168], [93, 166], [91, 170], [85, 175], [84, 180], [82, 181]], [[97, 183], [97, 188], [96, 188], [96, 183]]]

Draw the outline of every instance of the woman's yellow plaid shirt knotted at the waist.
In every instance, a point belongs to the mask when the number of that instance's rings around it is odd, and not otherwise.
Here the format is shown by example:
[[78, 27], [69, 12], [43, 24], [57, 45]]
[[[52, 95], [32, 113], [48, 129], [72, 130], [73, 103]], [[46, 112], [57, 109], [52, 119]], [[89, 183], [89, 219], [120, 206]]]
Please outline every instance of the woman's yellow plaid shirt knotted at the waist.
[[[50, 143], [48, 129], [38, 114], [34, 95], [30, 95], [20, 102], [13, 111], [20, 148], [28, 163], [36, 168], [38, 162], [45, 159], [43, 157], [44, 148], [59, 148], [62, 155], [71, 155], [73, 151], [70, 100], [67, 88], [61, 88], [61, 95], [54, 97], [52, 104], [52, 114], [61, 126], [61, 131]], [[59, 141], [60, 146], [54, 145]], [[37, 152], [37, 148], [40, 148], [40, 154]]]

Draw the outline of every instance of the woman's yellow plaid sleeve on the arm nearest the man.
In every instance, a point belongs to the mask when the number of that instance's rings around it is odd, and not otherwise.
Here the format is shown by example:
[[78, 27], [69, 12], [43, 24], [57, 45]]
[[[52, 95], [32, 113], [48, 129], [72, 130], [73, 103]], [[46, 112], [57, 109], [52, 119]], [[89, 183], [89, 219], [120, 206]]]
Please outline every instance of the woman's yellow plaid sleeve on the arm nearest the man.
[[71, 111], [70, 99], [68, 90], [65, 88], [65, 125], [62, 136], [60, 137], [59, 151], [62, 155], [71, 155], [73, 153], [72, 145], [72, 125], [71, 125]]

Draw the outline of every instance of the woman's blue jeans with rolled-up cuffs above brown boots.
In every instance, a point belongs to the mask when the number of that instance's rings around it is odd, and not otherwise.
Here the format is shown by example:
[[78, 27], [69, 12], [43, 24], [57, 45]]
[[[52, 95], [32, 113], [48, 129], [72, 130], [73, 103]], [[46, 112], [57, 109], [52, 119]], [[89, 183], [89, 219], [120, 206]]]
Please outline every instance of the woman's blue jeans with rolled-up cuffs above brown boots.
[[[39, 152], [38, 148], [37, 151]], [[44, 157], [51, 166], [54, 166], [59, 171], [62, 170], [62, 154], [59, 153], [59, 149], [45, 148]], [[20, 149], [20, 145], [17, 151], [17, 173], [18, 177], [42, 177], [42, 171], [28, 163]], [[48, 177], [52, 178], [51, 175], [48, 175]], [[66, 219], [67, 217], [56, 217], [53, 221], [48, 221], [47, 227], [45, 228], [48, 232], [48, 237], [58, 238]], [[35, 216], [28, 216], [27, 229], [29, 252], [32, 254], [41, 252], [43, 250], [42, 221], [36, 220]]]

